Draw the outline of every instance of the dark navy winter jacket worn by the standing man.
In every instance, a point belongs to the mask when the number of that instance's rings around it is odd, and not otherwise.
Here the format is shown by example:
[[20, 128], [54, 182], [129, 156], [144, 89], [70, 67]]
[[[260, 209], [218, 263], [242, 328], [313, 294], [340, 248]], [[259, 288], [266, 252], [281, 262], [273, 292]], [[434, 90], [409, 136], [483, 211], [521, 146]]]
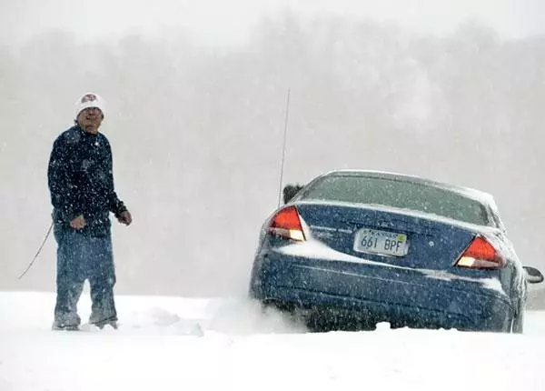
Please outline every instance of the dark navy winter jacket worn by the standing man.
[[83, 235], [110, 235], [110, 216], [126, 210], [114, 191], [112, 150], [108, 139], [75, 125], [54, 141], [47, 172], [55, 229], [69, 229], [83, 215]]

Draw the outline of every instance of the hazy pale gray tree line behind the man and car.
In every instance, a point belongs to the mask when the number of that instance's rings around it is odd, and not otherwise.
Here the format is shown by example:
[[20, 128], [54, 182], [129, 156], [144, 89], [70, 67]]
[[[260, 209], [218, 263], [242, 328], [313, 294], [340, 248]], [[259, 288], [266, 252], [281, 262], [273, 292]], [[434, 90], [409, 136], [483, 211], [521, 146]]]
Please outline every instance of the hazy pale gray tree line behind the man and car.
[[[8, 271], [34, 255], [48, 224], [48, 154], [87, 90], [109, 102], [103, 130], [118, 192], [134, 209], [133, 232], [116, 242], [124, 292], [245, 291], [259, 228], [277, 204], [288, 89], [286, 181], [352, 167], [489, 191], [520, 256], [545, 268], [544, 64], [543, 36], [505, 41], [474, 23], [415, 35], [292, 14], [263, 20], [236, 46], [196, 45], [183, 33], [82, 43], [50, 31], [0, 48]], [[13, 223], [32, 216], [45, 223]], [[53, 286], [51, 266], [25, 284]], [[15, 285], [0, 277], [1, 286]]]

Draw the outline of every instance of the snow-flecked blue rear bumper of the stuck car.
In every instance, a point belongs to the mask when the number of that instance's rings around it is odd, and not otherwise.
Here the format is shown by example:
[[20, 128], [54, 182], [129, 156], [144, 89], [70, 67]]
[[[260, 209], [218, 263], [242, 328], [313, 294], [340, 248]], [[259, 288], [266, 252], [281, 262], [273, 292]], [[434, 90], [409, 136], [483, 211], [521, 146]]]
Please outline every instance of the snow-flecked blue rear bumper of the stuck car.
[[448, 281], [417, 271], [283, 256], [255, 261], [250, 296], [294, 309], [312, 321], [357, 328], [392, 326], [510, 331], [507, 296], [479, 283]]

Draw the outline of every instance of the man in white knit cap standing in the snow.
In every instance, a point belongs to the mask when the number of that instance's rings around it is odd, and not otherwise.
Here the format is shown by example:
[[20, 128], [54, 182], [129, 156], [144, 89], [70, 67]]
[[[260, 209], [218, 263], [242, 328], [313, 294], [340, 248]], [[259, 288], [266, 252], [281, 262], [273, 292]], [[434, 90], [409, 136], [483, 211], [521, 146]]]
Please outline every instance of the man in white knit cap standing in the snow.
[[85, 280], [91, 288], [89, 323], [117, 328], [114, 303], [112, 212], [129, 226], [132, 216], [114, 191], [112, 151], [98, 132], [104, 101], [85, 94], [76, 103], [74, 126], [54, 141], [48, 184], [57, 242], [54, 330], [77, 330], [77, 303]]

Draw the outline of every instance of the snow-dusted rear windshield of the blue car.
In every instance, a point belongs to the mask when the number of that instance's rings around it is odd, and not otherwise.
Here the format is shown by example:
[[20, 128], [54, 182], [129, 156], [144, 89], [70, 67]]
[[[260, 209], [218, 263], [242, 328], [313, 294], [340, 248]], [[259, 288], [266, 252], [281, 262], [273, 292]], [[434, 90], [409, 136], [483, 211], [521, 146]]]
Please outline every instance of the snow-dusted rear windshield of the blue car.
[[306, 189], [302, 199], [393, 206], [480, 226], [490, 224], [479, 201], [447, 189], [389, 178], [325, 176]]

